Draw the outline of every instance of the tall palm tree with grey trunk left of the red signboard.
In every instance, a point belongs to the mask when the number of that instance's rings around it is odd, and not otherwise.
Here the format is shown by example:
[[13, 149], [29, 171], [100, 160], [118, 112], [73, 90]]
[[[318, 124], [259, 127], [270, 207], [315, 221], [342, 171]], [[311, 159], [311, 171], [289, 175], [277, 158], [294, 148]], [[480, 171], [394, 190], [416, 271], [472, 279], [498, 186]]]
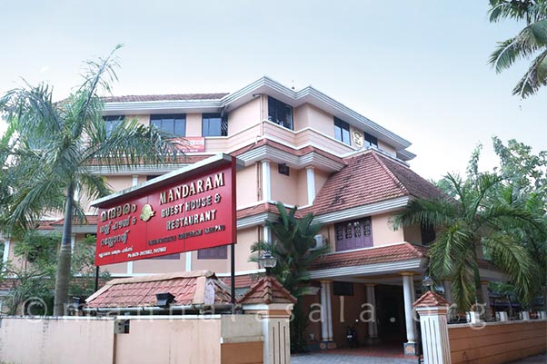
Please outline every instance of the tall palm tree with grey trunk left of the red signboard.
[[101, 95], [116, 79], [114, 52], [86, 62], [84, 81], [55, 103], [47, 84], [12, 90], [0, 99], [5, 119], [16, 130], [5, 168], [13, 177], [8, 220], [13, 229], [31, 227], [45, 212], [64, 211], [63, 238], [55, 278], [54, 314], [67, 300], [71, 266], [71, 233], [75, 217], [85, 219], [75, 194], [95, 199], [110, 192], [94, 167], [156, 164], [175, 152], [168, 135], [128, 120], [106, 130]]

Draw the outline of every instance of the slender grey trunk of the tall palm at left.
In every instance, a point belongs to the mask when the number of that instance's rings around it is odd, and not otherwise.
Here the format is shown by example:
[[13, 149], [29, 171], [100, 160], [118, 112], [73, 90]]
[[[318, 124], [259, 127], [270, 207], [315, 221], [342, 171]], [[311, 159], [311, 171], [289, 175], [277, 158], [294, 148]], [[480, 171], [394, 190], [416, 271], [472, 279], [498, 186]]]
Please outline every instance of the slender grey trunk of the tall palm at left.
[[59, 249], [57, 274], [55, 277], [54, 316], [63, 316], [65, 303], [68, 300], [68, 282], [70, 280], [70, 265], [72, 259], [72, 219], [74, 216], [74, 183], [70, 183], [66, 190], [65, 222], [63, 224], [63, 239]]

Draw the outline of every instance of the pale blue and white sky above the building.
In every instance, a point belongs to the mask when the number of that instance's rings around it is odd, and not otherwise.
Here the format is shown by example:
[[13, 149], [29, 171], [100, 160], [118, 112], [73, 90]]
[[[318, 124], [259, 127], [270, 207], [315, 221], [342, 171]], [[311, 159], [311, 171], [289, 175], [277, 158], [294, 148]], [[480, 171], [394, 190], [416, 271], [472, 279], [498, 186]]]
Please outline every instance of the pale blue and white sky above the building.
[[48, 81], [55, 99], [115, 44], [114, 94], [234, 92], [262, 75], [308, 84], [411, 141], [425, 178], [464, 172], [492, 135], [547, 149], [547, 90], [512, 96], [526, 63], [495, 74], [487, 0], [0, 0], [0, 93]]

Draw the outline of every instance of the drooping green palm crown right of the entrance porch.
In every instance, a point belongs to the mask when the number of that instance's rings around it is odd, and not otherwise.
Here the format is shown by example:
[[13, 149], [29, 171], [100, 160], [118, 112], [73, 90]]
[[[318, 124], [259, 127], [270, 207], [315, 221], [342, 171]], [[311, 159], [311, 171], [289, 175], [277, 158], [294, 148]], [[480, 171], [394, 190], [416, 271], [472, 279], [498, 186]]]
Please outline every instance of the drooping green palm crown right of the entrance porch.
[[454, 199], [413, 200], [395, 216], [395, 227], [436, 227], [429, 270], [438, 280], [452, 280], [453, 300], [462, 310], [476, 300], [482, 254], [509, 276], [522, 302], [530, 302], [541, 273], [520, 238], [522, 231], [542, 229], [542, 221], [518, 201], [502, 199], [502, 178], [494, 174], [465, 181], [448, 174], [444, 180]]

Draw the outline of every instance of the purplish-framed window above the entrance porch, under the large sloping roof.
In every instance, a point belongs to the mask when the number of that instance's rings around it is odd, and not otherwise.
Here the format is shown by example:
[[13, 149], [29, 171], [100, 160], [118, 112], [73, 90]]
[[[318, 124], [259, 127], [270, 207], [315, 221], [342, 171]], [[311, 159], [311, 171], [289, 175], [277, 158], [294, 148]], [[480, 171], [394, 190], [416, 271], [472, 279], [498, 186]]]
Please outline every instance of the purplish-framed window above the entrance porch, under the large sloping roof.
[[370, 217], [339, 222], [334, 225], [334, 231], [336, 251], [351, 251], [373, 246], [372, 220]]

